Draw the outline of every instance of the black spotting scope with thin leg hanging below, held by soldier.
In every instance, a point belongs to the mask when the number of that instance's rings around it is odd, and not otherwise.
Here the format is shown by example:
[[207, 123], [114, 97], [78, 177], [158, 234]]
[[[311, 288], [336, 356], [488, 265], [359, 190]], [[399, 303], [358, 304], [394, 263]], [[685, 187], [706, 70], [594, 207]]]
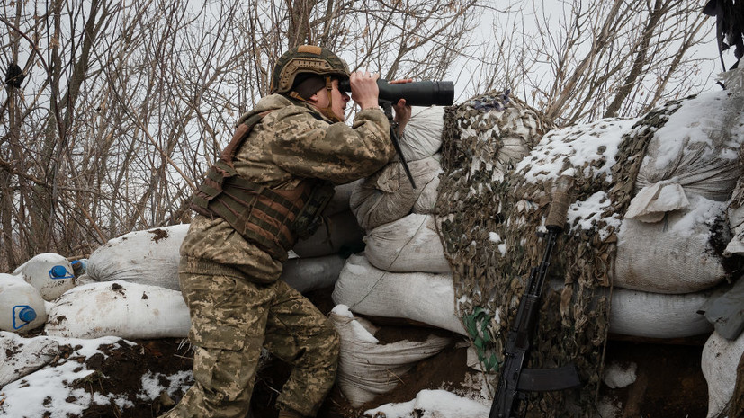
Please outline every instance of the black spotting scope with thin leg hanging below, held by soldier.
[[[379, 100], [382, 110], [390, 120], [390, 139], [398, 153], [400, 164], [408, 176], [408, 182], [416, 189], [416, 182], [413, 181], [408, 163], [400, 152], [398, 138], [398, 122], [392, 120], [392, 104], [397, 103], [400, 99], [406, 99], [408, 106], [452, 106], [454, 102], [454, 84], [451, 81], [417, 81], [404, 84], [389, 84], [386, 80], [378, 79], [377, 86], [380, 90]], [[338, 90], [341, 93], [352, 91], [351, 82], [342, 80], [338, 83]]]

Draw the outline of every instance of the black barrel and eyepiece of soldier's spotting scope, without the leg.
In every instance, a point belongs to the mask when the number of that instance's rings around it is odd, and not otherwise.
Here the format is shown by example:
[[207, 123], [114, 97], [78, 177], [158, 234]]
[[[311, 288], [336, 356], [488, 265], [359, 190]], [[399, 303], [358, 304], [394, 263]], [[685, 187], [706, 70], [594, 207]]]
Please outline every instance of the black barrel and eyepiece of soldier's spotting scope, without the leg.
[[[412, 83], [389, 84], [381, 78], [377, 80], [380, 88], [380, 100], [396, 103], [406, 99], [409, 106], [452, 106], [454, 102], [454, 84], [451, 81], [417, 81]], [[341, 93], [350, 93], [352, 86], [349, 80], [338, 82]]]

